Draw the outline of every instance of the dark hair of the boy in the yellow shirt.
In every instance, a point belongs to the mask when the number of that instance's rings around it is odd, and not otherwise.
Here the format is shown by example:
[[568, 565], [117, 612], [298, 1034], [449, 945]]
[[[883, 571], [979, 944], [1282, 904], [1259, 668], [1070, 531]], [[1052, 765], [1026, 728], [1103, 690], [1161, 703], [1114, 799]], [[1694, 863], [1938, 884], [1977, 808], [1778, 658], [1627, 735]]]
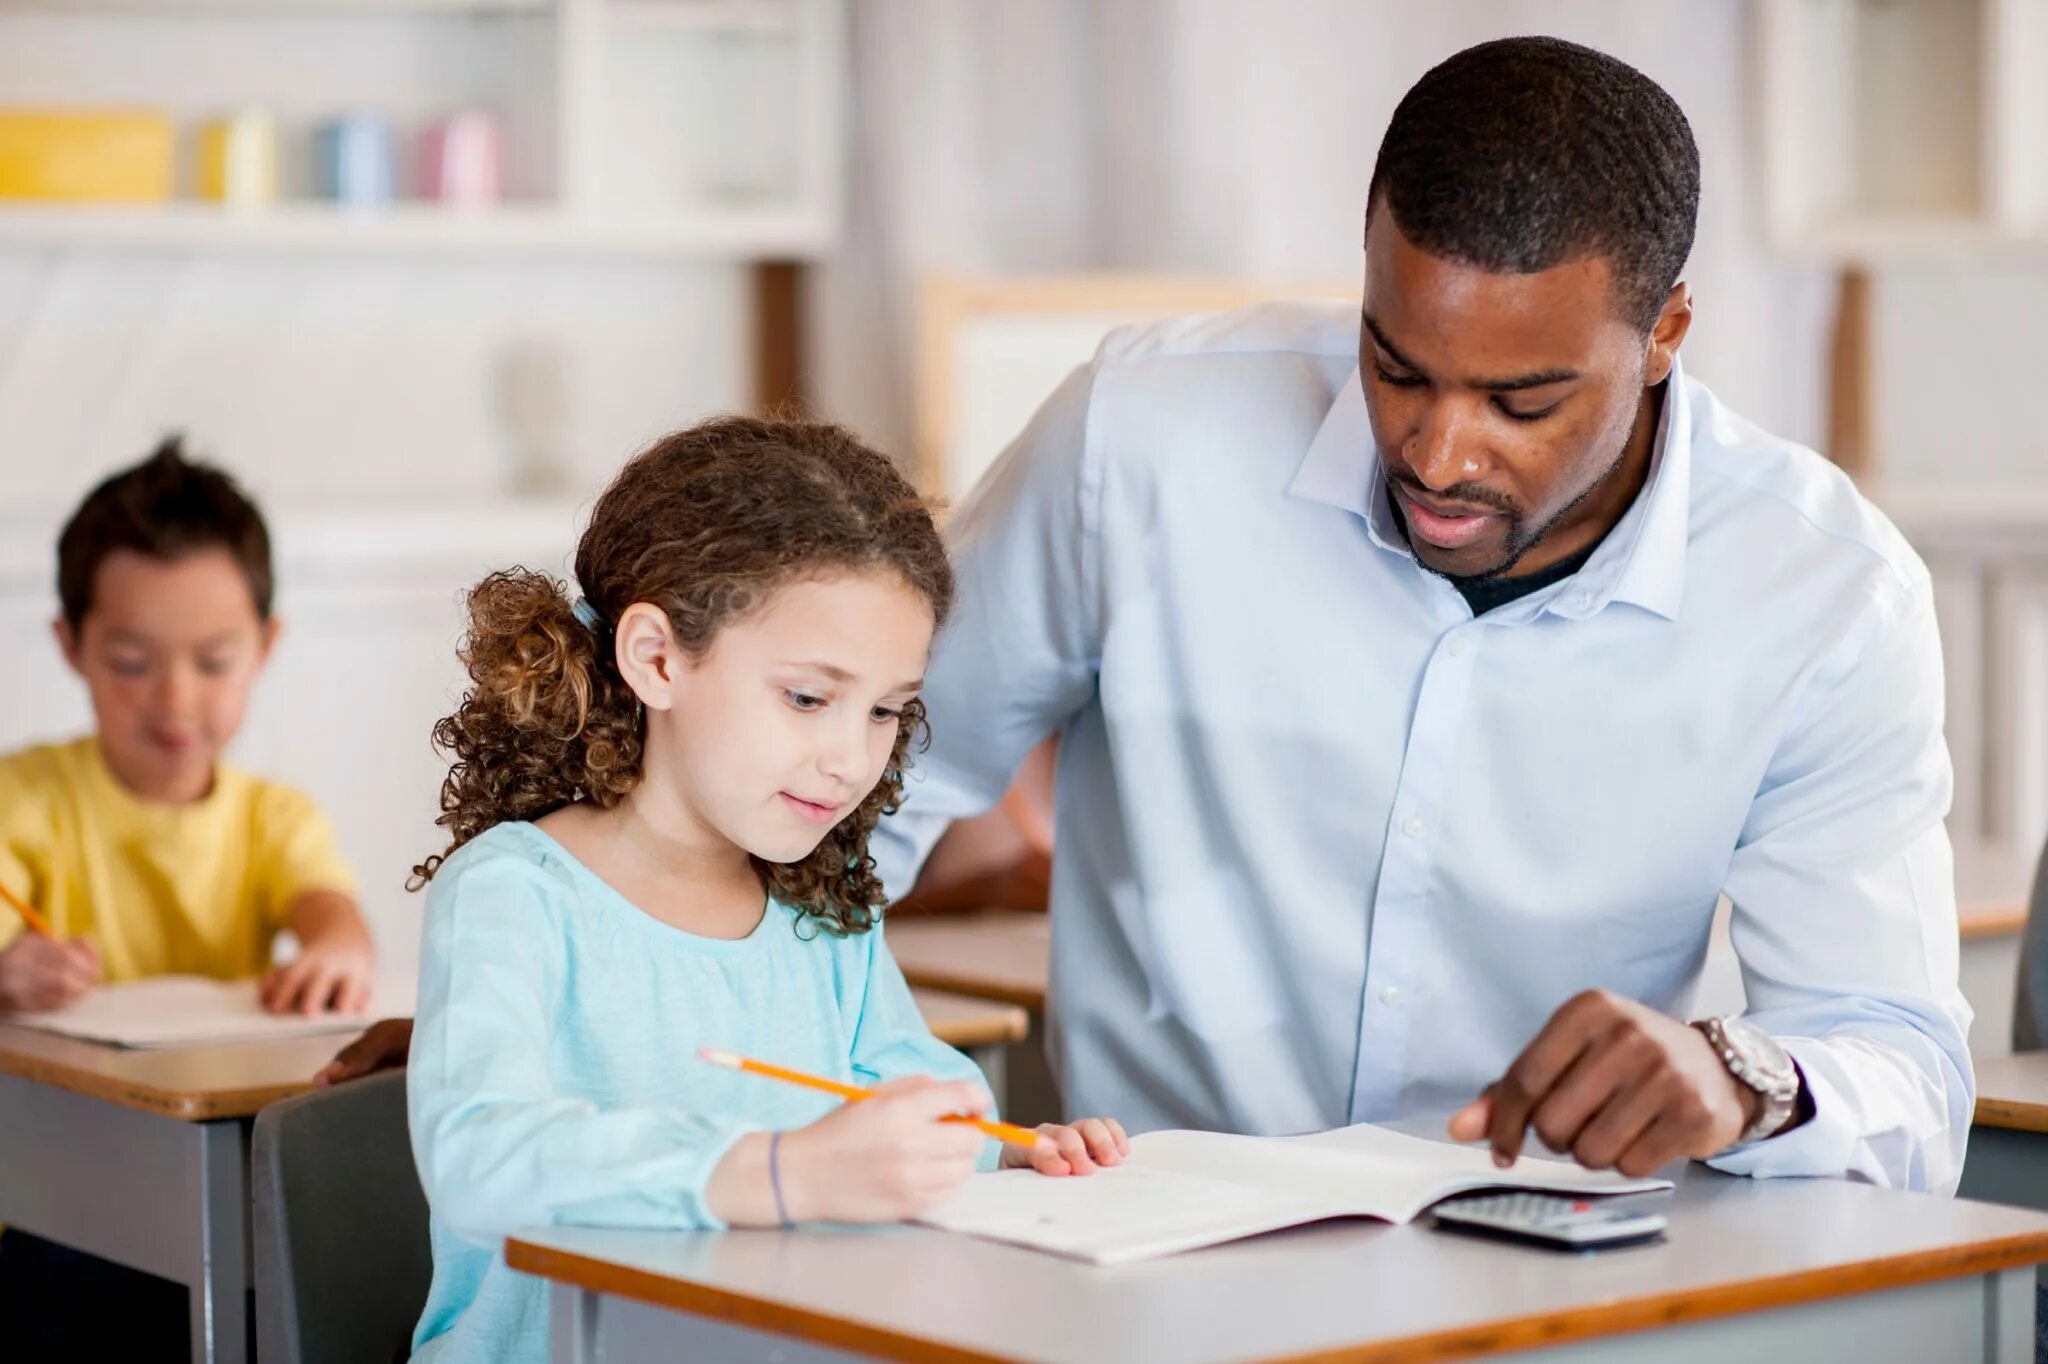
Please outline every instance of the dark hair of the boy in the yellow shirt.
[[92, 608], [92, 580], [117, 549], [178, 559], [225, 549], [250, 580], [256, 614], [270, 619], [270, 532], [242, 487], [213, 465], [184, 457], [166, 436], [150, 459], [86, 494], [57, 537], [57, 600], [74, 631]]

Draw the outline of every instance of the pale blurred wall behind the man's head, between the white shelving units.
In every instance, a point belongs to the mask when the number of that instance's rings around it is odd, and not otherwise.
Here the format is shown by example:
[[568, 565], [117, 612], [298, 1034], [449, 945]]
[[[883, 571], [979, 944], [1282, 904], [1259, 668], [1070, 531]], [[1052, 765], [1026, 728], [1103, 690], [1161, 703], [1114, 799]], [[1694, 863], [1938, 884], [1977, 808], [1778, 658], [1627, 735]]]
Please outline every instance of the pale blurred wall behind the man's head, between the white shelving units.
[[852, 223], [817, 309], [827, 410], [905, 446], [934, 268], [1354, 274], [1395, 102], [1513, 33], [1614, 51], [1686, 109], [1706, 178], [1688, 363], [1819, 442], [1833, 283], [1763, 240], [1743, 0], [862, 0]]

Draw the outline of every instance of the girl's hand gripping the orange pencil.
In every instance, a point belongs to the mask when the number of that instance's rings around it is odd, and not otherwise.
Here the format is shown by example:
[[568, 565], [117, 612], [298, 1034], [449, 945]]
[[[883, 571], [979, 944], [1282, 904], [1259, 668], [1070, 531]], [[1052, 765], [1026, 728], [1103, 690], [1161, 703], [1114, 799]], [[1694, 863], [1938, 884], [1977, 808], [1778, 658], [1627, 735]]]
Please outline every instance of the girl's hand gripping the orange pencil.
[[950, 1198], [987, 1141], [956, 1112], [989, 1110], [981, 1085], [895, 1079], [782, 1137], [782, 1204], [795, 1223], [899, 1223]]

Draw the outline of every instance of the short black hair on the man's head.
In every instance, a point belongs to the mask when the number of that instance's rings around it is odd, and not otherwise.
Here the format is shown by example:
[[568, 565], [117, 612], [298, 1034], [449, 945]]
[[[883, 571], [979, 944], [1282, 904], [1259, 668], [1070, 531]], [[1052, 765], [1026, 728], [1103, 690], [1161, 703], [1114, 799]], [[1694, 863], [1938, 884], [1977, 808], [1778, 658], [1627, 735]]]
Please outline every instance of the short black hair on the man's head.
[[1692, 254], [1700, 150], [1677, 102], [1614, 57], [1513, 37], [1432, 68], [1395, 109], [1366, 219], [1446, 260], [1532, 274], [1604, 256], [1649, 332]]

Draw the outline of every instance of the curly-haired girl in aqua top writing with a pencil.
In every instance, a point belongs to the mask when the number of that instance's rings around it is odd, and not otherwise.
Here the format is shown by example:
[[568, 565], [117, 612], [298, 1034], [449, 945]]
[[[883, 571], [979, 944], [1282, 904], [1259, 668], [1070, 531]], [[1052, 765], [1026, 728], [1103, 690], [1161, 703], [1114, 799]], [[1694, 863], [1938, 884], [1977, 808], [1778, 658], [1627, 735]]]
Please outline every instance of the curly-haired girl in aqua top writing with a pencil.
[[[883, 1223], [983, 1151], [989, 1108], [883, 946], [866, 842], [903, 797], [952, 571], [887, 459], [725, 418], [635, 457], [575, 553], [469, 594], [410, 1118], [434, 1284], [416, 1360], [541, 1360], [520, 1227]], [[836, 1106], [698, 1047], [877, 1083]], [[1114, 1122], [1004, 1159], [1087, 1174]]]

